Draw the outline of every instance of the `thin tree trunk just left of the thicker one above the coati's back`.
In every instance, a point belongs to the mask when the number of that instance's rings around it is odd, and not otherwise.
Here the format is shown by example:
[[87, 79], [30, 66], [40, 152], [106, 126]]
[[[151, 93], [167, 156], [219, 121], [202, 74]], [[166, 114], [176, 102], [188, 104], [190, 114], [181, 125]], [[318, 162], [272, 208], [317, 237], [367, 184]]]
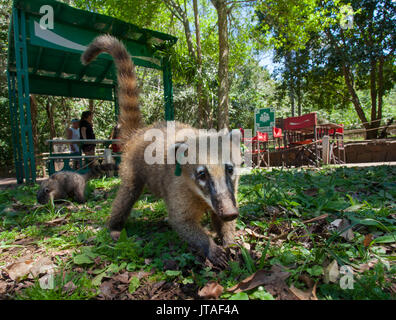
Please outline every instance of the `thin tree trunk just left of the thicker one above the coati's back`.
[[195, 38], [197, 46], [197, 95], [198, 95], [198, 126], [199, 128], [208, 125], [207, 119], [207, 98], [202, 85], [202, 50], [201, 50], [201, 29], [199, 25], [199, 13], [198, 13], [198, 0], [193, 0], [194, 8], [194, 22], [195, 22]]

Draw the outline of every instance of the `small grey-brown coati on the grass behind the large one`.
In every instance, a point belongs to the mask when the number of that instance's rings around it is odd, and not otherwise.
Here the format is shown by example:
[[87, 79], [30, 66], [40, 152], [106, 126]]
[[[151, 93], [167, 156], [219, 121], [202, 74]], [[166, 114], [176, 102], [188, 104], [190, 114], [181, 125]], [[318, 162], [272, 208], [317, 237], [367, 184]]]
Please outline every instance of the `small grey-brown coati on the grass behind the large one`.
[[46, 204], [53, 200], [72, 198], [78, 203], [84, 203], [85, 185], [89, 179], [97, 178], [104, 174], [105, 170], [117, 169], [114, 164], [94, 165], [85, 174], [72, 171], [60, 171], [44, 180], [37, 192], [37, 202]]

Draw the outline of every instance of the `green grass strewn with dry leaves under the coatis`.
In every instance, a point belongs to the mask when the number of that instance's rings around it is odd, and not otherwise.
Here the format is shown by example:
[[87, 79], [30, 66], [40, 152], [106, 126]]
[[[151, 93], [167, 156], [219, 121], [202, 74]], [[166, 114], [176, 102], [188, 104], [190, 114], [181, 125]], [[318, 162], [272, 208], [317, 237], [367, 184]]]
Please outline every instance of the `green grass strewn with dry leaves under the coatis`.
[[[120, 183], [117, 178], [90, 181], [84, 205], [37, 205], [37, 186], [1, 190], [0, 267], [23, 256], [27, 246], [45, 254], [70, 250], [54, 258], [62, 269], [54, 289], [42, 289], [33, 279], [8, 298], [100, 298], [103, 283], [125, 272], [150, 273], [126, 284], [125, 292], [138, 298], [148, 298], [143, 292], [161, 281], [183, 292], [196, 292], [212, 280], [230, 288], [259, 269], [279, 264], [290, 272], [288, 286], [304, 290], [302, 279], [309, 278], [317, 284], [319, 299], [394, 299], [395, 181], [396, 168], [390, 166], [253, 170], [241, 177], [238, 194], [237, 229], [246, 245], [233, 249], [239, 258], [230, 259], [223, 271], [205, 266], [189, 250], [166, 223], [164, 202], [147, 193], [136, 203], [120, 240], [112, 242], [104, 227]], [[324, 214], [327, 218], [319, 222], [305, 223]], [[336, 219], [349, 221], [352, 239], [329, 229]], [[283, 233], [276, 241], [267, 240]], [[353, 289], [325, 283], [326, 267], [334, 260], [355, 270]], [[244, 294], [224, 291], [221, 298], [274, 296], [259, 286]]]

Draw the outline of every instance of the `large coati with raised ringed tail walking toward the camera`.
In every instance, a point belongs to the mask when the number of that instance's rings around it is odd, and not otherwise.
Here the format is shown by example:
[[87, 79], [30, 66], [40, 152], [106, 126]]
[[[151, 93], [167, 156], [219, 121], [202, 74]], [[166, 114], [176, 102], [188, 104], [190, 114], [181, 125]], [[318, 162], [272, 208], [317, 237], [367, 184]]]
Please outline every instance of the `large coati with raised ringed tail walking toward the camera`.
[[[83, 53], [81, 61], [86, 65], [102, 52], [113, 57], [117, 68], [119, 123], [121, 139], [124, 143], [120, 165], [121, 185], [108, 221], [112, 238], [114, 240], [119, 238], [134, 203], [146, 185], [154, 195], [165, 200], [169, 222], [179, 235], [201, 251], [212, 263], [225, 267], [227, 265], [225, 250], [207, 234], [200, 225], [200, 220], [205, 212], [210, 211], [214, 229], [223, 245], [228, 246], [233, 243], [235, 219], [239, 214], [236, 203], [239, 180], [236, 167], [240, 165], [239, 130], [199, 136], [197, 129], [174, 122], [176, 132], [190, 129], [197, 138], [191, 141], [185, 137], [181, 141], [176, 141], [170, 148], [165, 147], [165, 164], [147, 164], [144, 159], [145, 149], [152, 144], [152, 141], [145, 141], [144, 134], [150, 129], [161, 130], [164, 133], [163, 140], [156, 142], [162, 142], [162, 145], [167, 146], [167, 123], [158, 122], [143, 127], [135, 67], [131, 56], [119, 40], [109, 35], [95, 38]], [[208, 157], [203, 163], [182, 164], [180, 175], [175, 174], [177, 165], [167, 164], [169, 152], [177, 152], [178, 148], [183, 146], [188, 153], [192, 145], [198, 146], [199, 139], [207, 140], [208, 146], [211, 138], [217, 139], [220, 142], [218, 152], [221, 154], [221, 139], [227, 135], [229, 138], [231, 134], [232, 141], [238, 141], [229, 144], [233, 152], [238, 154], [235, 157], [237, 160], [233, 159], [234, 162], [212, 164], [216, 161], [211, 161], [213, 155], [208, 152]]]

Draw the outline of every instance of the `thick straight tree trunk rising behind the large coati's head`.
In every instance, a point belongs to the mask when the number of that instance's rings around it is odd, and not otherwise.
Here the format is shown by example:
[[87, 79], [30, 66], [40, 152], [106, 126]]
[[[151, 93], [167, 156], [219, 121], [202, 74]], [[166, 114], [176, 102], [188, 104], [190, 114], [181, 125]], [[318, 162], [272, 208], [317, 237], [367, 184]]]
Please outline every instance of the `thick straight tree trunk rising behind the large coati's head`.
[[218, 129], [229, 127], [229, 81], [228, 81], [228, 25], [227, 15], [228, 7], [225, 0], [212, 0], [213, 5], [217, 11], [217, 26], [219, 32], [219, 91], [218, 91], [218, 112], [217, 112], [217, 126]]

